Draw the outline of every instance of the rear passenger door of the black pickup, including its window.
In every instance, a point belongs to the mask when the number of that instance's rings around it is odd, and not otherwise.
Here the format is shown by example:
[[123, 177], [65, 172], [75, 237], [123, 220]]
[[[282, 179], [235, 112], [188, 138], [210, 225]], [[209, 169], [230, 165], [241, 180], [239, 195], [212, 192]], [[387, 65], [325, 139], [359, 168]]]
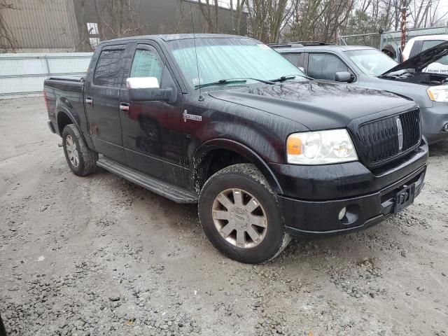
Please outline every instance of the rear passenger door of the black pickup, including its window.
[[125, 162], [120, 124], [120, 88], [126, 45], [106, 46], [99, 54], [92, 80], [85, 87], [85, 111], [98, 153]]

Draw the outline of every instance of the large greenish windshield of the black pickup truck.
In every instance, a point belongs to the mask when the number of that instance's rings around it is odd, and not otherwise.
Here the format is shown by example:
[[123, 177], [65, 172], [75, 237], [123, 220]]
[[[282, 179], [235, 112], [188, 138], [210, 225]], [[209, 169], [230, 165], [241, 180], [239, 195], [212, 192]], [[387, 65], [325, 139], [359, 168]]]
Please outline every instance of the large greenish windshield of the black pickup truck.
[[[188, 38], [171, 41], [169, 49], [193, 90], [197, 85], [224, 79], [245, 79], [242, 85], [291, 75], [297, 76], [287, 80], [305, 79], [304, 73], [278, 52], [249, 38], [196, 38], [195, 41]], [[216, 84], [218, 87], [230, 85], [241, 85], [241, 81]]]

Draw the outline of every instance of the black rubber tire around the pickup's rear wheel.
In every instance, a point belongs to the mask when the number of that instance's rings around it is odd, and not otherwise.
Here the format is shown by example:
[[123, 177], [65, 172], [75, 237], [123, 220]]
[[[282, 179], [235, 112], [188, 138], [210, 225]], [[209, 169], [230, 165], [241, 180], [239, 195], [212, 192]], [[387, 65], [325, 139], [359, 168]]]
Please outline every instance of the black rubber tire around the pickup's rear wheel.
[[[76, 145], [76, 151], [78, 153], [78, 161], [76, 163], [78, 165], [73, 164], [69, 159], [69, 153], [67, 153], [67, 146], [69, 146], [67, 144], [67, 137]], [[87, 176], [95, 171], [97, 168], [98, 154], [87, 147], [87, 144], [85, 144], [82, 135], [75, 125], [69, 124], [64, 127], [62, 131], [62, 146], [64, 147], [67, 163], [73, 173], [78, 176]]]

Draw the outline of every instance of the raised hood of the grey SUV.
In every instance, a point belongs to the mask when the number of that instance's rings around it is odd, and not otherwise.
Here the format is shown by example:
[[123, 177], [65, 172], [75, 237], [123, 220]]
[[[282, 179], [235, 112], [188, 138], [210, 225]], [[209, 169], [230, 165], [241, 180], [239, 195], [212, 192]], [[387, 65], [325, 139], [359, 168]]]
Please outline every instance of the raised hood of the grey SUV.
[[419, 72], [425, 69], [429, 64], [437, 62], [445, 55], [448, 55], [448, 41], [434, 45], [433, 48], [429, 48], [423, 52], [420, 52], [414, 57], [407, 59], [405, 62], [402, 62], [397, 66], [394, 66], [392, 69], [389, 69], [379, 77], [381, 78], [386, 76], [388, 73], [405, 69], [414, 69], [415, 72]]

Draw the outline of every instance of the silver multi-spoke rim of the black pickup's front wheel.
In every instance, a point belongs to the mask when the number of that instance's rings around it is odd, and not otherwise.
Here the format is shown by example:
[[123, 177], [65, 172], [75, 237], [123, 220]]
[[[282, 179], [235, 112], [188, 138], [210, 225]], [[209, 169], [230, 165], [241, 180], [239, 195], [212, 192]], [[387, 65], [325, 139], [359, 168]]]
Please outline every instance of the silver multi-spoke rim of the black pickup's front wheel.
[[265, 209], [245, 190], [227, 189], [216, 196], [212, 216], [216, 230], [233, 246], [253, 248], [265, 239]]

